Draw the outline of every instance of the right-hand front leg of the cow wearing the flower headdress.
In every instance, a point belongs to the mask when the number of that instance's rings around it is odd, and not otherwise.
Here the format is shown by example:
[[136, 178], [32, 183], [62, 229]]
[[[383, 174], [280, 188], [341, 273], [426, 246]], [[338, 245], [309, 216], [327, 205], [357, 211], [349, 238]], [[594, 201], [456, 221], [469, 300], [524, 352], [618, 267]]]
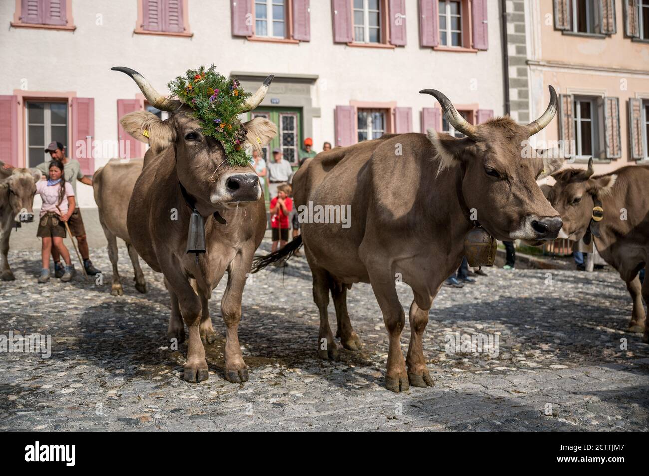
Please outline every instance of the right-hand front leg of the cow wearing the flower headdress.
[[241, 320], [241, 296], [246, 273], [252, 265], [253, 251], [241, 250], [228, 267], [228, 283], [221, 299], [221, 315], [225, 322], [225, 378], [232, 383], [248, 380], [248, 368], [239, 347], [239, 320]]

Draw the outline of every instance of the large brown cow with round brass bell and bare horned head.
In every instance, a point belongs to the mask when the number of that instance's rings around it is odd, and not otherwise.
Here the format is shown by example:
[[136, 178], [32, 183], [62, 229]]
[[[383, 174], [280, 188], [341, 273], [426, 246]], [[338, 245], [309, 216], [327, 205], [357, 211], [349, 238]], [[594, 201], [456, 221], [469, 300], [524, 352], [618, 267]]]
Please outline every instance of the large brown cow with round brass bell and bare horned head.
[[[559, 215], [535, 182], [543, 169], [550, 173], [560, 163], [521, 158], [528, 137], [554, 117], [557, 98], [552, 87], [548, 109], [527, 126], [508, 117], [473, 126], [445, 95], [432, 89], [422, 92], [436, 97], [448, 121], [467, 137], [457, 139], [432, 129], [428, 136], [384, 136], [321, 152], [293, 177], [298, 210], [350, 206], [352, 211], [345, 226], [313, 217], [302, 224], [313, 300], [321, 318], [318, 354], [323, 359], [337, 355], [327, 315], [329, 291], [336, 305], [337, 335], [345, 348], [356, 350], [360, 340], [347, 313], [347, 289], [360, 281], [371, 283], [389, 333], [386, 387], [395, 392], [409, 385], [434, 385], [422, 335], [435, 295], [462, 261], [472, 220], [479, 220], [496, 239], [508, 241], [554, 239], [561, 228]], [[471, 216], [474, 212], [477, 217]], [[258, 260], [254, 270], [289, 256], [299, 243], [292, 241], [275, 256]], [[405, 316], [395, 276], [415, 294], [405, 360], [400, 347]]]

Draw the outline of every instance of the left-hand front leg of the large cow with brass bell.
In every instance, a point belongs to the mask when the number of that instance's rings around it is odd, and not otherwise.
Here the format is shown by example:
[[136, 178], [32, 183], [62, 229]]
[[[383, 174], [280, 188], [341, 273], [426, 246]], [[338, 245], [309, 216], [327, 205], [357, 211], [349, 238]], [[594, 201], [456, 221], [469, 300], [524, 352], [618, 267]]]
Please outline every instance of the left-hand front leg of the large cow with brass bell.
[[390, 268], [389, 265], [386, 266], [386, 263], [379, 263], [373, 269], [368, 268], [368, 271], [372, 290], [383, 313], [383, 320], [390, 338], [390, 347], [387, 352], [386, 388], [393, 392], [402, 392], [410, 389], [406, 361], [401, 351], [400, 342], [401, 332], [406, 324], [406, 314], [399, 302], [391, 272], [385, 272]]

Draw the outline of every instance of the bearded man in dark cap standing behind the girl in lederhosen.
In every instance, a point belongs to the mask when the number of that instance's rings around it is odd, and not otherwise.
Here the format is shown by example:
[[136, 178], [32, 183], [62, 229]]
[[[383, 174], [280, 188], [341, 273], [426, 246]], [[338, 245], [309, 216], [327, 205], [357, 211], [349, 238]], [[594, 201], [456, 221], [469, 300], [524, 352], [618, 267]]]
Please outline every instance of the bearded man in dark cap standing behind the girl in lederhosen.
[[[72, 188], [75, 191], [75, 196], [77, 195], [77, 180], [82, 184], [90, 185], [92, 187], [92, 178], [85, 176], [81, 172], [81, 164], [77, 159], [69, 159], [64, 152], [65, 147], [60, 142], [51, 142], [45, 152], [49, 152], [52, 159], [60, 160], [64, 165], [64, 177], [66, 182], [69, 182], [72, 185]], [[43, 175], [47, 177], [49, 173], [49, 161], [40, 163], [36, 165], [36, 168], [39, 169]], [[67, 220], [67, 224], [70, 226], [70, 232], [77, 237], [77, 243], [79, 244], [79, 253], [83, 258], [84, 268], [90, 276], [95, 276], [99, 274], [99, 270], [93, 267], [92, 261], [90, 261], [90, 250], [88, 250], [88, 239], [86, 237], [86, 227], [83, 224], [83, 218], [81, 217], [81, 210], [79, 209], [79, 200], [77, 200], [77, 208], [73, 211], [72, 216]], [[55, 248], [52, 249], [52, 257], [54, 259], [55, 266], [55, 276], [60, 278], [63, 276], [64, 267], [60, 263], [60, 256], [58, 255], [58, 250]]]

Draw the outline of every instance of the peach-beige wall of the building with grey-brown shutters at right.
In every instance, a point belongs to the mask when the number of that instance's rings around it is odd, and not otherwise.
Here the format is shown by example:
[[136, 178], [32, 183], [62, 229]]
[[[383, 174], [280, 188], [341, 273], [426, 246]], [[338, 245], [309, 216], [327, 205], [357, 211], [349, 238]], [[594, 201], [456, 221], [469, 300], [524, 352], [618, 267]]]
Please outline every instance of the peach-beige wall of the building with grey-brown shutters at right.
[[[596, 173], [606, 173], [635, 163], [630, 156], [628, 100], [649, 99], [649, 43], [633, 42], [624, 34], [622, 1], [615, 1], [617, 32], [611, 36], [578, 36], [556, 30], [553, 2], [526, 0], [528, 26], [528, 69], [530, 113], [545, 109], [548, 85], [557, 93], [619, 99], [622, 156], [615, 160], [594, 160]], [[536, 138], [559, 139], [559, 120], [552, 121]], [[574, 160], [585, 167], [587, 160]]]

